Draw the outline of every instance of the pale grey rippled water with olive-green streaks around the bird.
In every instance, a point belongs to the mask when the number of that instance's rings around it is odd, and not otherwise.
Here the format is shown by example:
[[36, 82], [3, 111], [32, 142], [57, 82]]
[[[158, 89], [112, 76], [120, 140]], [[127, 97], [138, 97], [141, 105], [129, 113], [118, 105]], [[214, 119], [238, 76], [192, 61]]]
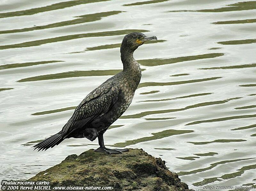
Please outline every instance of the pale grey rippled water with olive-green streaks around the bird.
[[122, 69], [120, 42], [138, 31], [159, 40], [136, 50], [141, 83], [106, 144], [161, 157], [194, 189], [255, 186], [255, 11], [239, 0], [1, 1], [0, 179], [26, 180], [97, 148], [31, 146]]

